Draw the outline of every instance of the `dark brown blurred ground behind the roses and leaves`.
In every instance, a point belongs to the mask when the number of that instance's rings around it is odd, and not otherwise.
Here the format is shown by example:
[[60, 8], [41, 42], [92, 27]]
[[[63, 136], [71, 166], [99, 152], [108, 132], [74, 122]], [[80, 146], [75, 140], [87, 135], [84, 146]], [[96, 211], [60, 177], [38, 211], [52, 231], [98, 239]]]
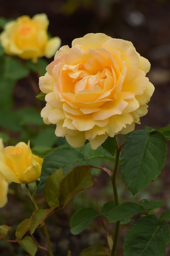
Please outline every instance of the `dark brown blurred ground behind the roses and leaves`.
[[[0, 16], [4, 18], [15, 19], [22, 15], [32, 17], [37, 13], [47, 14], [50, 34], [59, 36], [62, 45], [71, 46], [74, 38], [90, 32], [103, 32], [111, 37], [132, 41], [137, 52], [149, 59], [151, 70], [148, 77], [155, 85], [148, 114], [136, 128], [140, 129], [145, 125], [160, 128], [170, 124], [170, 0], [0, 0]], [[38, 90], [38, 80], [35, 86]], [[23, 79], [15, 87], [15, 105], [32, 106], [35, 104], [32, 95], [28, 81]], [[103, 180], [106, 182], [103, 177], [98, 177], [96, 186], [91, 191], [96, 198], [102, 196], [102, 193], [109, 193], [106, 189], [101, 192], [101, 188], [105, 186]], [[150, 199], [163, 199], [166, 201], [166, 207], [170, 207], [169, 154], [163, 172], [153, 183], [143, 192], [143, 198], [146, 196]], [[122, 188], [120, 193], [122, 197], [127, 196]], [[86, 196], [82, 195], [85, 201]], [[26, 216], [29, 207], [16, 202], [14, 204], [12, 195], [10, 199], [12, 202], [0, 209], [0, 222], [5, 220], [13, 224], [16, 216], [18, 222], [20, 217], [22, 219]], [[41, 201], [41, 198], [39, 200]], [[81, 205], [82, 198], [76, 200], [73, 204]], [[69, 218], [72, 208], [74, 207], [70, 206], [53, 217], [52, 221], [57, 223], [57, 228], [55, 224], [49, 223], [56, 256], [66, 256], [68, 249], [72, 250], [72, 256], [78, 256], [84, 247], [91, 246], [96, 241], [105, 244], [105, 235], [98, 233], [97, 224], [79, 236], [70, 234]], [[31, 209], [29, 210], [31, 212]], [[126, 228], [123, 230], [125, 232]], [[122, 256], [123, 235], [120, 238], [118, 255]], [[27, 255], [22, 250], [13, 250], [6, 244], [0, 244], [0, 248], [1, 256]], [[167, 248], [166, 256], [169, 255], [170, 248]]]

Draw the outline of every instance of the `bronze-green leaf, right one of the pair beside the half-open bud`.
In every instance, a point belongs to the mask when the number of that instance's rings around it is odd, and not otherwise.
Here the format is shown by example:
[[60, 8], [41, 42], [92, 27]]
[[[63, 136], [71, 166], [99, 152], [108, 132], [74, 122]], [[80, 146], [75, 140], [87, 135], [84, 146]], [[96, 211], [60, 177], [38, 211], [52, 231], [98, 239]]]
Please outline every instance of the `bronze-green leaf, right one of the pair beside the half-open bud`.
[[63, 177], [59, 188], [61, 206], [65, 206], [77, 193], [93, 186], [91, 171], [92, 168], [88, 165], [76, 166]]

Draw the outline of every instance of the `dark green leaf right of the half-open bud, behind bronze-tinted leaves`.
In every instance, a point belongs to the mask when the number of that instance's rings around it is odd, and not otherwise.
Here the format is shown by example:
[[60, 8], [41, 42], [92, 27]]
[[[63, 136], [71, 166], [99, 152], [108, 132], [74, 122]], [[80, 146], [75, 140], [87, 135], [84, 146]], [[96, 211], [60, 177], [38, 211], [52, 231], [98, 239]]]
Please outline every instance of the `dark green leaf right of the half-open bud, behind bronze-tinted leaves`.
[[63, 168], [63, 173], [67, 173], [74, 166], [81, 164], [87, 164], [87, 161], [84, 161], [83, 153], [75, 148], [70, 146], [60, 146], [54, 149], [44, 157], [41, 171], [41, 185], [37, 191], [43, 191], [46, 180], [57, 169]]

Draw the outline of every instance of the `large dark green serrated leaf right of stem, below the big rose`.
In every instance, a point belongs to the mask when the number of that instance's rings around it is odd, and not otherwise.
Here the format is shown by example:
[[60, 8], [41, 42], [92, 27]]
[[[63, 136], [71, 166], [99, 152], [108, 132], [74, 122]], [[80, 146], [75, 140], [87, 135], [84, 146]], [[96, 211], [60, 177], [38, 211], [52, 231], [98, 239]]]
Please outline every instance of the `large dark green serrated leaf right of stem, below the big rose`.
[[131, 132], [122, 151], [122, 177], [134, 195], [161, 173], [167, 154], [166, 139], [160, 132]]

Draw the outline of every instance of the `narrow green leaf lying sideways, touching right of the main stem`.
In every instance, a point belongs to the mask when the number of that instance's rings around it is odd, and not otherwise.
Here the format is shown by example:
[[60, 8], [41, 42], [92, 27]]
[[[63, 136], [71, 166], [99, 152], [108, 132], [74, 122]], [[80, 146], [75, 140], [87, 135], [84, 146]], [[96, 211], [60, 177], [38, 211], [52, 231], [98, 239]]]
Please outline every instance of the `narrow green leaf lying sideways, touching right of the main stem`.
[[124, 202], [109, 211], [108, 221], [116, 222], [118, 220], [123, 220], [124, 218], [132, 217], [141, 213], [142, 211], [144, 211], [142, 205], [134, 202]]

